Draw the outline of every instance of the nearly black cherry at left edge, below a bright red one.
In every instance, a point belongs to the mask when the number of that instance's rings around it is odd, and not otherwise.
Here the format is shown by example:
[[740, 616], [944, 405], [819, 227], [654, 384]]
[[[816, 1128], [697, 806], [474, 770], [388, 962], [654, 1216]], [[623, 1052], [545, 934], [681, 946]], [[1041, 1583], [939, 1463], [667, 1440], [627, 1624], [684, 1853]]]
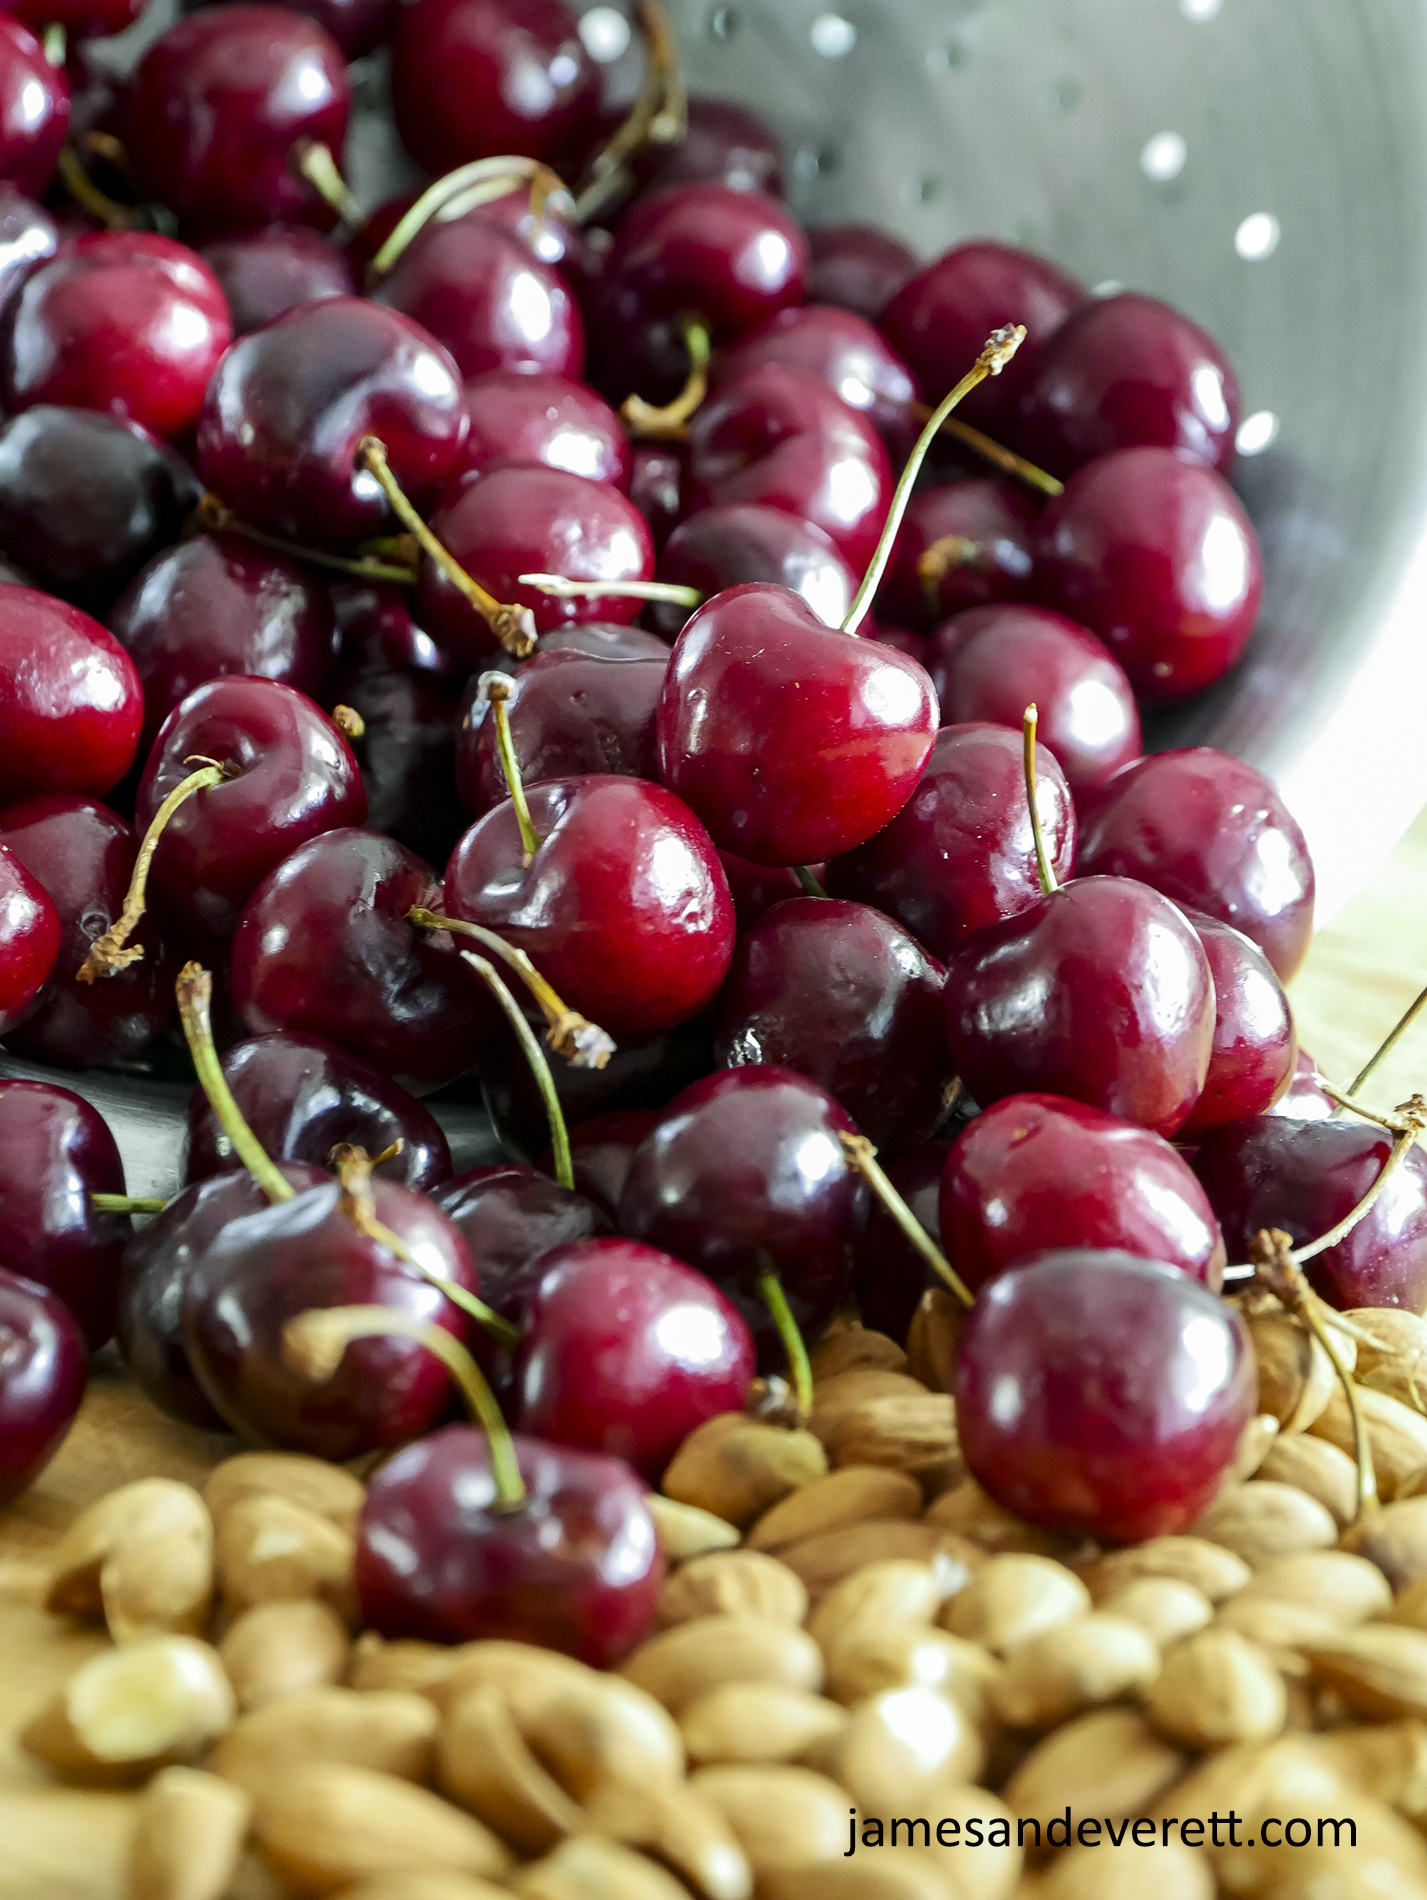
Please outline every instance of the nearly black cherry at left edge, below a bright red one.
[[91, 614], [179, 538], [200, 492], [177, 450], [112, 416], [38, 403], [0, 428], [0, 543]]

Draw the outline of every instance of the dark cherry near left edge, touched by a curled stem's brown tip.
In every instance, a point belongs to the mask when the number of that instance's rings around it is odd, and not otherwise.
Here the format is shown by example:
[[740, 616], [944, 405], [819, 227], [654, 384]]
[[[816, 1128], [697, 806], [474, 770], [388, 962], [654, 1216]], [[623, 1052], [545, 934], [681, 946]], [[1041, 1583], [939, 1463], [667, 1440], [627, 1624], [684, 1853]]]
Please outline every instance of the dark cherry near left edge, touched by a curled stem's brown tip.
[[148, 910], [129, 937], [139, 963], [103, 982], [78, 969], [114, 923], [133, 876], [139, 840], [118, 811], [76, 792], [42, 792], [0, 811], [0, 844], [49, 893], [59, 914], [59, 956], [38, 1007], [6, 1047], [30, 1062], [106, 1068], [131, 1062], [173, 1015], [175, 960]]

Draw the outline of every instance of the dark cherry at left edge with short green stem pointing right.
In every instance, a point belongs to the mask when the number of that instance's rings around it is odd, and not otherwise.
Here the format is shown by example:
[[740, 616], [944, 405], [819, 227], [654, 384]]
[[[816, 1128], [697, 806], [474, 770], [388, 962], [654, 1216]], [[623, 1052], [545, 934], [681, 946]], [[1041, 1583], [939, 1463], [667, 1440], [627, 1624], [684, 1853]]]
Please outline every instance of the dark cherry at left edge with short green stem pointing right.
[[97, 1110], [46, 1081], [0, 1081], [0, 1260], [48, 1286], [91, 1347], [114, 1332], [127, 1214], [91, 1195], [124, 1193], [124, 1163]]

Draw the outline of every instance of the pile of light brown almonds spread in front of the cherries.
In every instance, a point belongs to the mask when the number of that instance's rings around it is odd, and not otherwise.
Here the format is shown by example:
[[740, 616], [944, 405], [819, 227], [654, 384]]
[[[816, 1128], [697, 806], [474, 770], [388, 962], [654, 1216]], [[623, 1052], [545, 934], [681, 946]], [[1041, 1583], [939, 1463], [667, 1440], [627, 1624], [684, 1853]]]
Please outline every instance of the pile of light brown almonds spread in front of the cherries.
[[[728, 1414], [676, 1454], [659, 1626], [618, 1674], [355, 1632], [338, 1467], [124, 1486], [48, 1590], [114, 1647], [25, 1748], [144, 1786], [131, 1900], [1419, 1900], [1427, 1322], [1343, 1315], [1381, 1497], [1359, 1512], [1322, 1347], [1243, 1300], [1262, 1412], [1235, 1472], [1188, 1533], [1108, 1552], [967, 1474], [944, 1296], [906, 1353], [834, 1330], [804, 1427]], [[1066, 1809], [1098, 1845], [1017, 1843], [1022, 1818], [1060, 1843]], [[933, 1845], [891, 1845], [899, 1816]], [[1267, 1816], [1311, 1843], [1262, 1843]]]

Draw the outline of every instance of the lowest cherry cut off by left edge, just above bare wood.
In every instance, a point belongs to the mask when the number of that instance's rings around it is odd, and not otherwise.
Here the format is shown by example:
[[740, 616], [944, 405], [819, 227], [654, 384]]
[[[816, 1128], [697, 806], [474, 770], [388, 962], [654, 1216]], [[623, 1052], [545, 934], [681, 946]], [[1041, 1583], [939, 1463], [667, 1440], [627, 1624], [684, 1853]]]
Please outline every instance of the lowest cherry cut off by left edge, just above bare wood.
[[68, 1307], [0, 1267], [0, 1509], [65, 1442], [84, 1381], [84, 1336]]

